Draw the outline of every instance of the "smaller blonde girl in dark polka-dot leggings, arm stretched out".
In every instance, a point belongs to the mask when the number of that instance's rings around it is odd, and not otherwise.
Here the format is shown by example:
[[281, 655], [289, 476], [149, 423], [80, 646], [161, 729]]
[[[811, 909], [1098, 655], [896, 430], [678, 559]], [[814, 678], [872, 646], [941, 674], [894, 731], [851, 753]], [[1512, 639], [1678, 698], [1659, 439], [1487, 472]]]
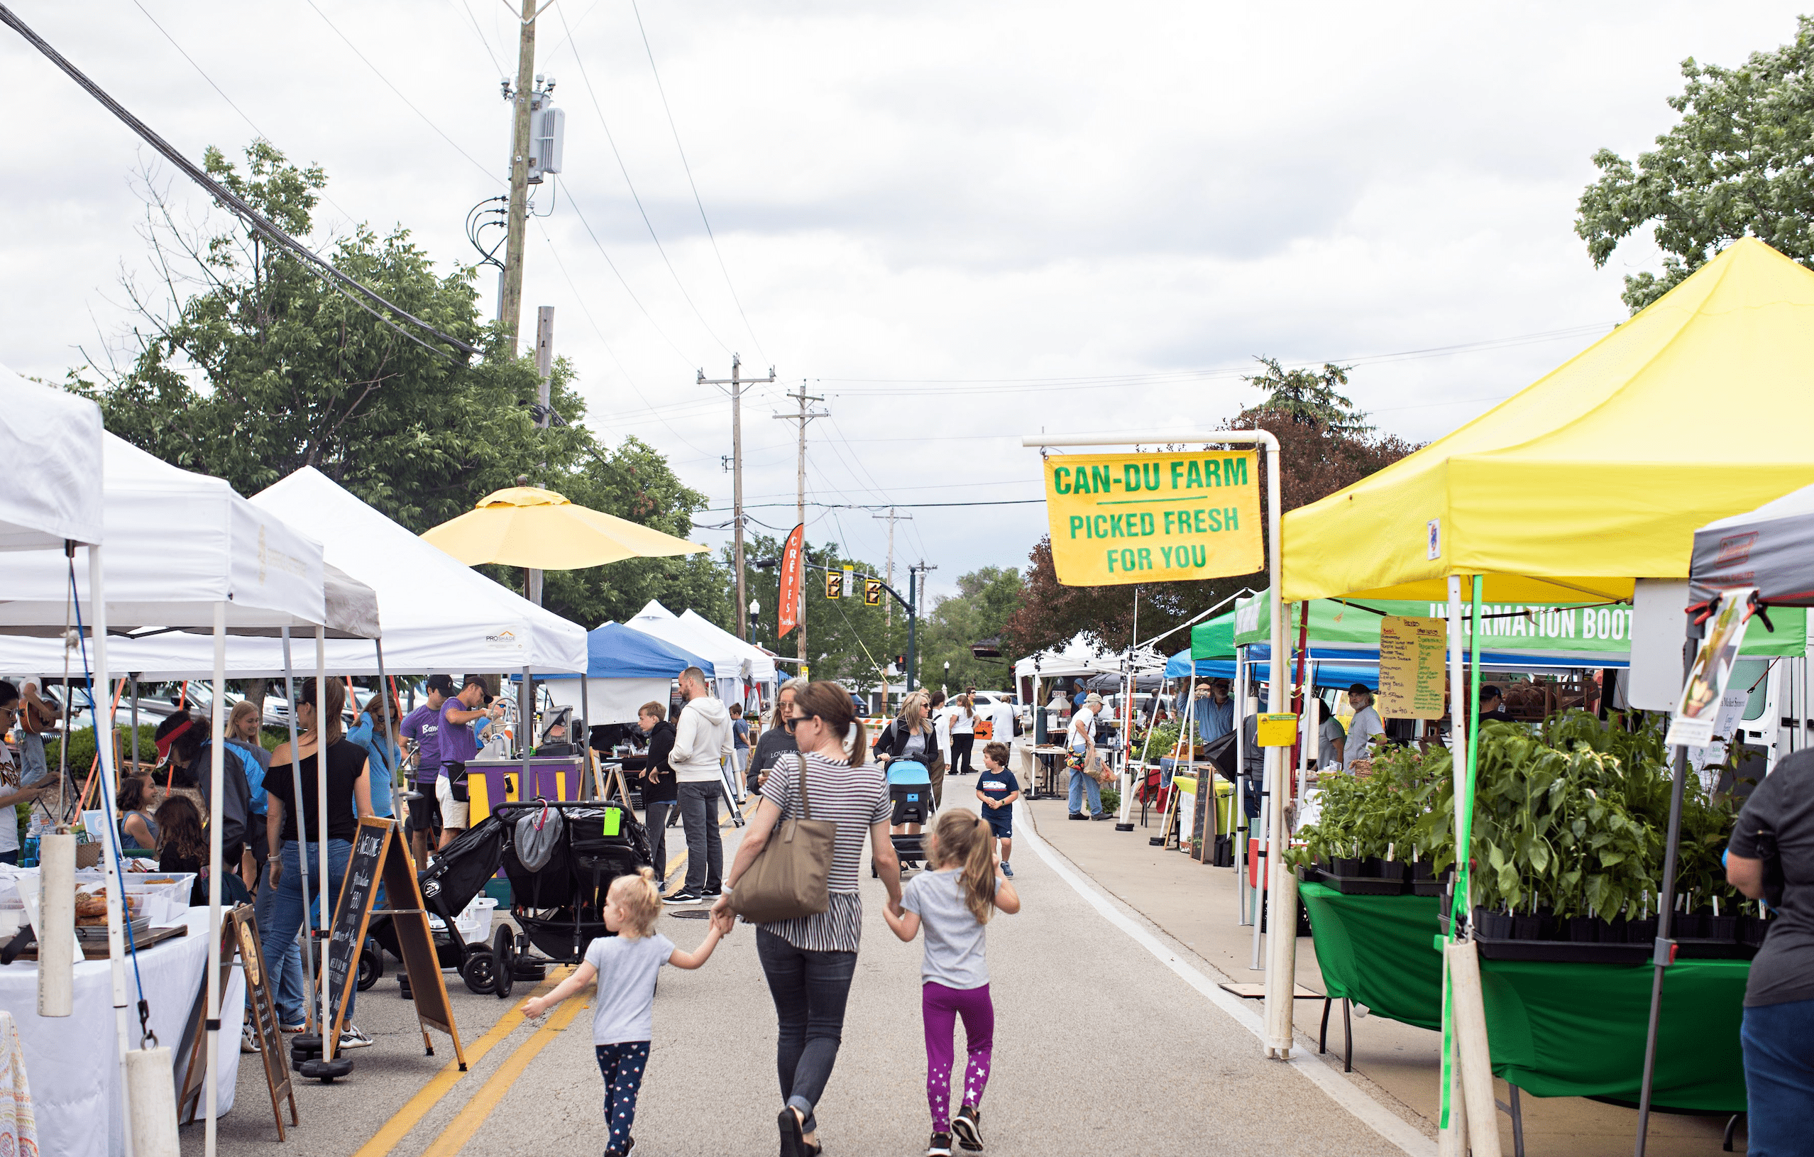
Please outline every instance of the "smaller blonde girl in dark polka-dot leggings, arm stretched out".
[[637, 1144], [629, 1126], [637, 1119], [637, 1094], [642, 1070], [649, 1063], [649, 1037], [655, 1028], [655, 974], [662, 965], [698, 968], [724, 938], [711, 923], [697, 952], [682, 952], [655, 930], [662, 912], [662, 894], [655, 872], [639, 869], [619, 876], [604, 894], [604, 927], [617, 936], [600, 936], [586, 948], [586, 961], [548, 996], [524, 1001], [522, 1016], [541, 1017], [550, 1008], [599, 979], [591, 1014], [591, 1043], [604, 1074], [604, 1123], [611, 1146], [604, 1157], [626, 1157]]

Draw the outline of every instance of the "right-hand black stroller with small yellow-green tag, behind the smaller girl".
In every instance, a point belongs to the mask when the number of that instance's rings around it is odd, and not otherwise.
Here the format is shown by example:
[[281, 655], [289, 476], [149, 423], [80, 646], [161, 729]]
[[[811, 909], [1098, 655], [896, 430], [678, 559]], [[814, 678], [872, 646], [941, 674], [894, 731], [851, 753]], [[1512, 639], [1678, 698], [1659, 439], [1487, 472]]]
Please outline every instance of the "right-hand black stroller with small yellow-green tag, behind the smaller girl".
[[[619, 876], [648, 867], [651, 856], [648, 831], [620, 803], [499, 803], [492, 818], [504, 827], [510, 916], [522, 929], [499, 929], [492, 947], [504, 996], [524, 967], [539, 974], [548, 963], [577, 965], [593, 939], [610, 936], [606, 890]], [[532, 947], [542, 956], [532, 958]]]

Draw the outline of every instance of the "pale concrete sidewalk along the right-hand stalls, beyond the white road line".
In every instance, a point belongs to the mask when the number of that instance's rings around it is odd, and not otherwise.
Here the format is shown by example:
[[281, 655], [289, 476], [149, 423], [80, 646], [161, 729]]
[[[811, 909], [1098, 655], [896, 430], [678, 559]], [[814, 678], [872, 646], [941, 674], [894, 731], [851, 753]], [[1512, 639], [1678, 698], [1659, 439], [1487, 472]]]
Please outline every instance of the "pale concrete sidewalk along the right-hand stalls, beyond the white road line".
[[[1112, 823], [1076, 823], [1065, 818], [1063, 800], [1038, 800], [1025, 812], [1039, 836], [1065, 858], [1076, 863], [1103, 890], [1110, 892], [1146, 919], [1168, 932], [1194, 952], [1204, 965], [1237, 983], [1259, 983], [1261, 970], [1253, 963], [1253, 929], [1239, 925], [1234, 869], [1204, 867], [1188, 854], [1152, 847], [1148, 838], [1159, 834], [1159, 820], [1137, 827], [1139, 809], [1134, 809], [1136, 829], [1117, 832]], [[1016, 867], [1021, 852], [1016, 851]], [[1322, 974], [1317, 968], [1315, 947], [1310, 938], [1297, 941], [1297, 983], [1322, 992]], [[1259, 1001], [1253, 1001], [1255, 1010]], [[1295, 1026], [1301, 1045], [1315, 1052], [1322, 1017], [1321, 999], [1299, 999]], [[1330, 1014], [1330, 1055], [1341, 1072], [1342, 1012], [1337, 1003]], [[1257, 1045], [1255, 1045], [1257, 1048]], [[1393, 1112], [1419, 1121], [1428, 1135], [1435, 1135], [1440, 1090], [1440, 1034], [1413, 1028], [1382, 1017], [1353, 1017], [1353, 1074], [1355, 1081]], [[1506, 1101], [1507, 1086], [1495, 1081], [1497, 1097]], [[1636, 1137], [1636, 1110], [1602, 1104], [1584, 1097], [1522, 1095], [1524, 1152], [1529, 1157], [1625, 1157]], [[1687, 1157], [1720, 1153], [1725, 1115], [1685, 1117], [1653, 1113], [1649, 1153], [1658, 1157]], [[1511, 1150], [1511, 1119], [1500, 1113], [1504, 1152]], [[1736, 1152], [1745, 1152], [1740, 1128]]]

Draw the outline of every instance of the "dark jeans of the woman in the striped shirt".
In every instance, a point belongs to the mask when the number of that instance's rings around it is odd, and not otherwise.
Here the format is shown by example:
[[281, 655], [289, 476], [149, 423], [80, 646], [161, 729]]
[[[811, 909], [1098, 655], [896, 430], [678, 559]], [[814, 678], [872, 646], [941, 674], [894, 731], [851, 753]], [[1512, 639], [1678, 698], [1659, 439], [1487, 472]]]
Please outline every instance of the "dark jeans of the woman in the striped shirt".
[[756, 929], [756, 959], [775, 999], [775, 1068], [782, 1097], [805, 1115], [802, 1128], [811, 1133], [818, 1128], [813, 1106], [825, 1095], [844, 1043], [844, 1006], [856, 977], [856, 952], [807, 952]]

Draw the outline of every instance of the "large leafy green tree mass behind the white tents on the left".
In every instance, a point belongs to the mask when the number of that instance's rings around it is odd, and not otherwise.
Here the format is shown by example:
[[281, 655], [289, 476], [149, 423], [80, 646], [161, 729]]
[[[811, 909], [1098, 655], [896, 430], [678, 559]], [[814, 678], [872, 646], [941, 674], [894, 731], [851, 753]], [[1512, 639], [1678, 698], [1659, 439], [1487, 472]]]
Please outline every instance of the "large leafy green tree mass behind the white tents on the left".
[[[234, 167], [219, 151], [207, 170], [299, 239], [327, 176], [267, 141]], [[238, 219], [192, 230], [145, 183], [154, 290], [127, 279], [140, 314], [123, 366], [89, 359], [71, 386], [94, 397], [107, 428], [160, 459], [256, 493], [314, 466], [414, 531], [454, 519], [493, 490], [537, 486], [671, 535], [689, 537], [706, 497], [637, 439], [615, 450], [580, 424], [577, 372], [555, 361], [551, 404], [564, 424], [530, 413], [539, 374], [497, 326], [477, 319], [473, 270], [435, 270], [405, 228], [366, 227], [332, 243], [336, 267], [484, 355], [452, 361], [385, 325], [274, 252]], [[486, 571], [521, 591], [524, 577]], [[724, 626], [729, 597], [709, 557], [633, 559], [551, 571], [544, 604], [588, 627], [628, 618], [649, 598]]]

